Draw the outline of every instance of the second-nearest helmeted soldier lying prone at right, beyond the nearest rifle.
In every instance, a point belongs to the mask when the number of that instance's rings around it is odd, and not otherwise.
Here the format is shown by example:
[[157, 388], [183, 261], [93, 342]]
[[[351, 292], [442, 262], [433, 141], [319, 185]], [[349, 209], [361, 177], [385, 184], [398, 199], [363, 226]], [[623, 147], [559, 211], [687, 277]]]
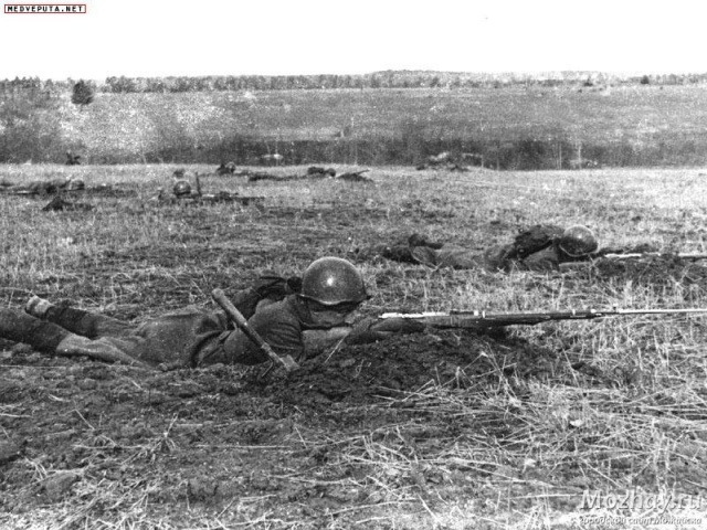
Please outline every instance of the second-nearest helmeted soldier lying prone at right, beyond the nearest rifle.
[[562, 230], [555, 225], [535, 225], [518, 234], [513, 243], [494, 245], [484, 253], [447, 243], [429, 242], [419, 234], [412, 234], [408, 246], [388, 246], [380, 254], [389, 259], [430, 267], [556, 271], [564, 263], [591, 259], [598, 248], [597, 237], [585, 226], [574, 225]]

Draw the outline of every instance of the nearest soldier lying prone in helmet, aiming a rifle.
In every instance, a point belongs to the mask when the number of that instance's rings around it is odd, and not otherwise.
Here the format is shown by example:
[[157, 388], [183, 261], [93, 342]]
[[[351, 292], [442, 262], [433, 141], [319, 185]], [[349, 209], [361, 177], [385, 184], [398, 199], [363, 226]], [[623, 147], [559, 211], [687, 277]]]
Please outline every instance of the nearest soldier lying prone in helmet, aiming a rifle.
[[[297, 280], [263, 276], [232, 300], [276, 353], [302, 360], [340, 340], [373, 342], [424, 327], [403, 319], [349, 326], [347, 317], [368, 299], [368, 294], [361, 274], [346, 259], [319, 258], [306, 268], [300, 286]], [[134, 326], [32, 297], [24, 312], [0, 308], [0, 338], [50, 354], [162, 368], [268, 360], [223, 312], [196, 308]]]

